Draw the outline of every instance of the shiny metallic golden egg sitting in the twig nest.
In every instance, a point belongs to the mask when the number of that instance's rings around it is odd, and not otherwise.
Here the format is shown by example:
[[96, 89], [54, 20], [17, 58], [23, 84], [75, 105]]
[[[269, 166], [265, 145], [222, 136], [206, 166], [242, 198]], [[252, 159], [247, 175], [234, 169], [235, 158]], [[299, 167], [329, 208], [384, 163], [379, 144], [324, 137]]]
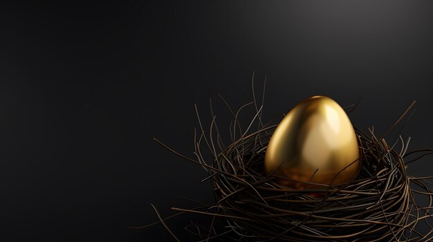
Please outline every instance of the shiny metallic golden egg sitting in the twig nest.
[[295, 105], [270, 138], [264, 168], [280, 184], [295, 189], [306, 188], [308, 182], [340, 185], [356, 177], [358, 140], [346, 112], [324, 96]]

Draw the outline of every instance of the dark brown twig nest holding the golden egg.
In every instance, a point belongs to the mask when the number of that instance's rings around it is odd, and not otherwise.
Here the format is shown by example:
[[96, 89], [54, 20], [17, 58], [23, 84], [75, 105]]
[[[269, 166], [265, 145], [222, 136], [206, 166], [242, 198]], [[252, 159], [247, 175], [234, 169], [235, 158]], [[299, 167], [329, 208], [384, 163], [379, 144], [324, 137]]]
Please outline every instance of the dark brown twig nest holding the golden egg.
[[[328, 187], [311, 184], [312, 188], [308, 188], [307, 183], [302, 190], [280, 185], [277, 179], [281, 177], [275, 174], [264, 174], [266, 147], [277, 124], [261, 121], [263, 105], [257, 105], [255, 97], [248, 105], [255, 106], [255, 113], [245, 130], [241, 130], [239, 125], [239, 111], [233, 112], [229, 107], [234, 121], [230, 125], [228, 146], [223, 145], [212, 110], [210, 132], [203, 130], [199, 119], [194, 159], [155, 139], [208, 172], [205, 181], [212, 183], [215, 203], [194, 209], [172, 208], [179, 212], [210, 216], [210, 225], [194, 225], [199, 230], [196, 234], [201, 241], [432, 239], [433, 229], [429, 220], [431, 222], [433, 193], [425, 184], [430, 177], [409, 176], [407, 165], [431, 154], [433, 150], [407, 152], [409, 141], [404, 142], [401, 137], [391, 146], [385, 141], [385, 136], [405, 117], [414, 103], [380, 137], [372, 129], [362, 132], [355, 128], [362, 161], [358, 177], [349, 183]], [[254, 126], [257, 128], [253, 130]], [[204, 155], [203, 147], [210, 150], [210, 156]], [[425, 204], [420, 205], [420, 199]], [[216, 228], [216, 219], [222, 220], [225, 225]], [[164, 221], [160, 218], [160, 222], [172, 233]], [[425, 223], [420, 226], [421, 221]], [[173, 233], [172, 236], [177, 239]]]

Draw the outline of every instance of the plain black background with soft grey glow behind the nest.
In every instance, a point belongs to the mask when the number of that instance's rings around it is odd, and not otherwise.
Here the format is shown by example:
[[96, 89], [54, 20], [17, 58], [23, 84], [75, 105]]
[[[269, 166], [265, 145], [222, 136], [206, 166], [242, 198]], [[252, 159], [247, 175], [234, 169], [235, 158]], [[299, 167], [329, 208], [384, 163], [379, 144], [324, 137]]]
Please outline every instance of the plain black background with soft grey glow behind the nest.
[[[217, 94], [233, 108], [252, 100], [253, 72], [258, 93], [266, 77], [264, 119], [315, 94], [342, 106], [362, 97], [353, 125], [383, 134], [416, 100], [403, 137], [432, 147], [432, 11], [432, 1], [3, 3], [1, 239], [171, 241], [161, 225], [127, 227], [156, 221], [150, 203], [166, 216], [190, 206], [180, 196], [212, 202], [210, 185], [151, 138], [192, 157], [194, 103], [208, 125]], [[216, 116], [228, 132], [229, 112]], [[168, 222], [184, 241], [188, 219]]]

